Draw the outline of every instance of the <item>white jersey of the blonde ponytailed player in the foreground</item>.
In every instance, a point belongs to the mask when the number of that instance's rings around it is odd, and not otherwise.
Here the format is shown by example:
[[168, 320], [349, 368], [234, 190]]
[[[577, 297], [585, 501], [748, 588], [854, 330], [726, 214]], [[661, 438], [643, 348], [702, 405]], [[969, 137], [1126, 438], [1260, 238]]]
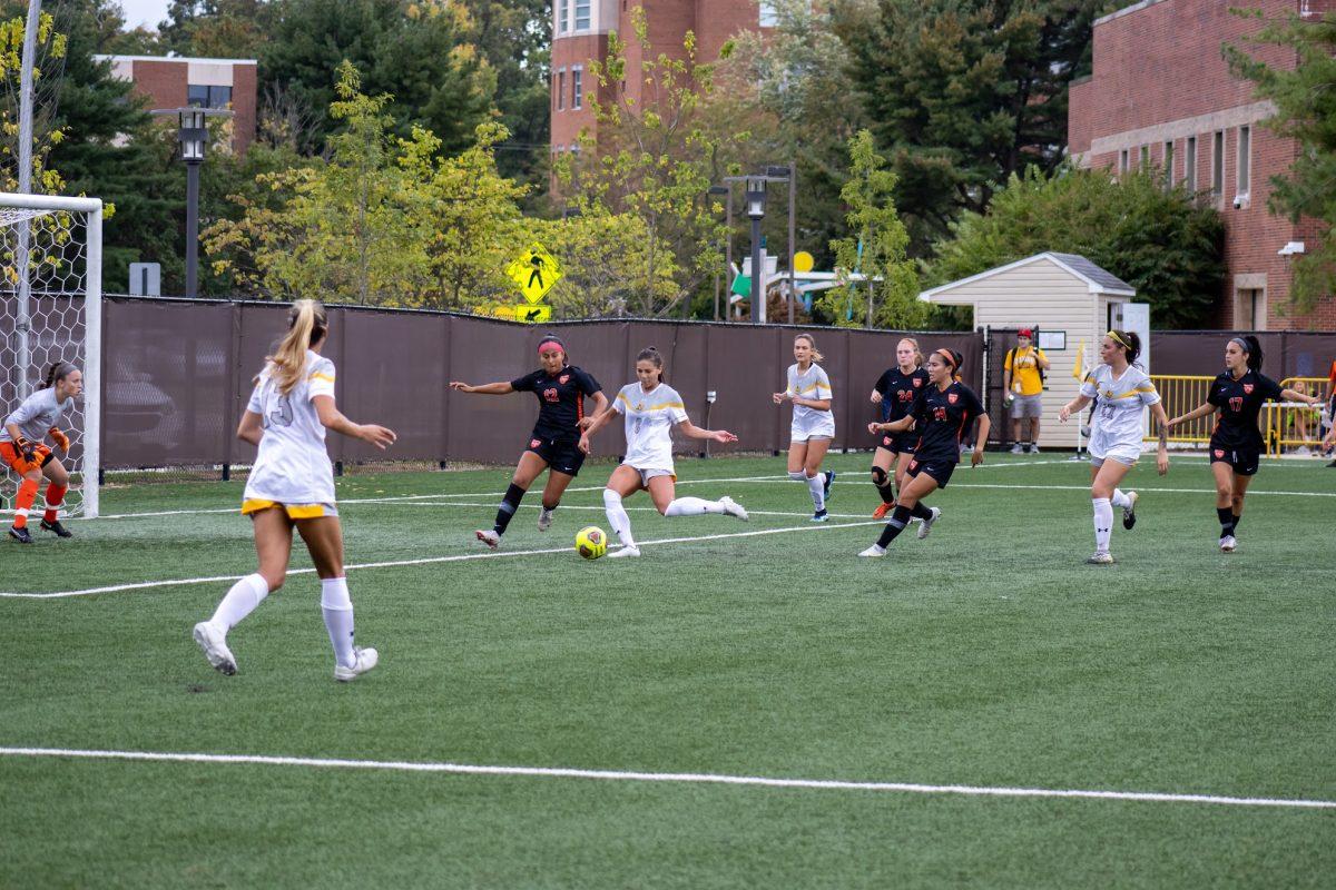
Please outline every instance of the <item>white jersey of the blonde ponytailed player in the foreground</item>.
[[334, 503], [334, 467], [325, 451], [325, 427], [313, 399], [334, 398], [334, 363], [306, 351], [306, 368], [291, 392], [283, 395], [266, 364], [255, 382], [247, 411], [265, 424], [259, 455], [246, 479], [246, 500], [281, 504]]

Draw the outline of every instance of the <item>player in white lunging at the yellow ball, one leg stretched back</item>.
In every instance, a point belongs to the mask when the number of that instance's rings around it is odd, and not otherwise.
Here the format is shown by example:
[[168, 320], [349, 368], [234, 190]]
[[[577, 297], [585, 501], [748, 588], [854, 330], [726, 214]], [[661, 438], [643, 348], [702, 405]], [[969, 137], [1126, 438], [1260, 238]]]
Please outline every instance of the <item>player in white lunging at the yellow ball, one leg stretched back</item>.
[[647, 347], [636, 356], [636, 383], [628, 383], [617, 392], [589, 428], [580, 436], [580, 450], [589, 454], [591, 438], [603, 428], [612, 415], [627, 418], [627, 456], [621, 466], [612, 471], [608, 487], [603, 491], [603, 506], [608, 523], [621, 539], [621, 550], [612, 556], [639, 556], [640, 547], [631, 534], [631, 516], [621, 504], [644, 488], [664, 516], [701, 516], [705, 514], [727, 514], [747, 520], [747, 511], [732, 498], [705, 500], [703, 498], [679, 498], [677, 474], [672, 459], [672, 428], [677, 427], [689, 439], [711, 439], [721, 444], [737, 442], [737, 436], [727, 430], [701, 430], [687, 418], [681, 396], [663, 382], [664, 360], [655, 347]]

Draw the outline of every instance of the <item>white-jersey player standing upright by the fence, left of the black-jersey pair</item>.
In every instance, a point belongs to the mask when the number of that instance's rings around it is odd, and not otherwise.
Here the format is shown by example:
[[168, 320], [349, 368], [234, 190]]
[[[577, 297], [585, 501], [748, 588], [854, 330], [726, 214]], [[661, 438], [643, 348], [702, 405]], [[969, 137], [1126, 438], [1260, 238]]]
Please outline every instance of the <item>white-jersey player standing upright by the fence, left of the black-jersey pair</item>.
[[812, 494], [816, 512], [812, 522], [826, 522], [826, 502], [831, 496], [835, 474], [822, 472], [822, 460], [835, 438], [835, 415], [831, 414], [831, 379], [826, 368], [816, 364], [824, 356], [816, 348], [811, 334], [794, 338], [794, 358], [788, 366], [788, 382], [783, 392], [772, 398], [775, 404], [787, 399], [794, 403], [794, 422], [788, 432], [788, 478], [802, 482]]

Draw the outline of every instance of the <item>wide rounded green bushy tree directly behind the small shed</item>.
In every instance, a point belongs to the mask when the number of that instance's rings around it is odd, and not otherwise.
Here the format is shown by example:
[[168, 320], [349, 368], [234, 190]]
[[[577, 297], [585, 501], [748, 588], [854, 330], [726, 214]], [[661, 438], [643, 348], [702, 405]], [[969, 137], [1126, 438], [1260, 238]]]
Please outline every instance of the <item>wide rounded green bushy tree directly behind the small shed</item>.
[[943, 284], [1034, 254], [1079, 254], [1137, 290], [1157, 328], [1209, 319], [1224, 287], [1224, 223], [1164, 172], [1120, 179], [1104, 169], [1030, 168], [997, 192], [986, 216], [966, 213], [937, 246], [927, 284]]

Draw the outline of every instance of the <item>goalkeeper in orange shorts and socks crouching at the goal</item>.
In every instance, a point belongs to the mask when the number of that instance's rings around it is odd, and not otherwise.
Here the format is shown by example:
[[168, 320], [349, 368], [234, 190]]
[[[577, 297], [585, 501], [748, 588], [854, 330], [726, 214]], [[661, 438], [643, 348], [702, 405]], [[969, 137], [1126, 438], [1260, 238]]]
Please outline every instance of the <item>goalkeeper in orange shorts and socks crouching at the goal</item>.
[[83, 392], [83, 372], [68, 362], [56, 362], [47, 371], [47, 383], [29, 395], [15, 408], [0, 427], [0, 460], [23, 479], [13, 502], [13, 526], [9, 536], [20, 544], [31, 544], [28, 532], [28, 512], [37, 499], [37, 487], [45, 476], [47, 510], [41, 515], [41, 527], [60, 538], [71, 538], [69, 531], [60, 524], [60, 504], [69, 488], [69, 472], [60, 459], [44, 443], [47, 435], [60, 451], [69, 456], [69, 436], [60, 428], [65, 412], [73, 408], [75, 399]]

